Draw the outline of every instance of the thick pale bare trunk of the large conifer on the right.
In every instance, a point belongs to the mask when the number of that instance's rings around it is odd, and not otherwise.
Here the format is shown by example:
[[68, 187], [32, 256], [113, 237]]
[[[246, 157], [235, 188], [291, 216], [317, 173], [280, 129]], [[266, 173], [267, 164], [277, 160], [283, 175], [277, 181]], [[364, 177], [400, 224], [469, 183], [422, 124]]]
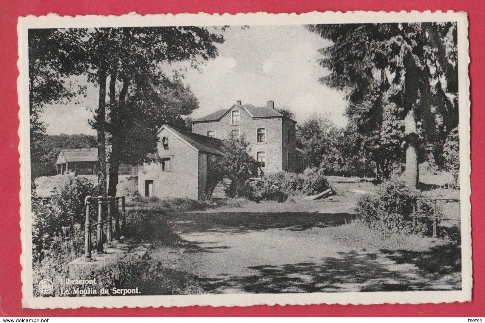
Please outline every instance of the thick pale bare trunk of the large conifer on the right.
[[405, 183], [409, 188], [418, 188], [419, 164], [418, 164], [418, 130], [414, 118], [413, 109], [409, 109], [404, 119], [406, 135], [406, 170]]

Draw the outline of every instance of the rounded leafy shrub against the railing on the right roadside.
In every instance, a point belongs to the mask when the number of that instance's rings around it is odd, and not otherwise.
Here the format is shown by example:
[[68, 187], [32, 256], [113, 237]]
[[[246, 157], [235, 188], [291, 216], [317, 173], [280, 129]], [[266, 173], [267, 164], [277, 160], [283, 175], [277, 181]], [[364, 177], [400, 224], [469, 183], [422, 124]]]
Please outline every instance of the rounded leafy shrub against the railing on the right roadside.
[[[416, 218], [413, 226], [413, 206], [419, 194], [404, 182], [389, 180], [378, 186], [377, 196], [363, 196], [357, 200], [356, 212], [371, 229], [388, 237], [391, 234], [424, 234], [429, 231], [429, 221]], [[429, 214], [430, 206], [420, 203], [420, 213]]]

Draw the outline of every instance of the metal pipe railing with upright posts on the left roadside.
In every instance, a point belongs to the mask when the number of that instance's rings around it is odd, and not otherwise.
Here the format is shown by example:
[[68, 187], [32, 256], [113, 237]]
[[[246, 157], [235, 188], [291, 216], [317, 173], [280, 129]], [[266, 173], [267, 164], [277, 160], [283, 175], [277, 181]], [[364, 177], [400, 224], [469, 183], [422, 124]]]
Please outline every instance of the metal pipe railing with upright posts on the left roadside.
[[[122, 216], [120, 218], [119, 212], [119, 200], [121, 200], [121, 208], [122, 208]], [[97, 201], [97, 222], [91, 223], [90, 220], [90, 213], [91, 213], [91, 205], [93, 202]], [[103, 250], [103, 243], [106, 238], [106, 243], [108, 245], [116, 244], [121, 241], [123, 238], [122, 232], [124, 233], [126, 230], [126, 211], [125, 211], [125, 197], [107, 197], [104, 198], [102, 196], [92, 197], [86, 196], [84, 199], [84, 205], [86, 208], [86, 221], [84, 225], [84, 255], [83, 258], [86, 261], [91, 261], [91, 227], [97, 227], [97, 244], [96, 244], [96, 254], [100, 255], [104, 253]], [[106, 205], [106, 208], [103, 208], [103, 204]], [[113, 209], [113, 204], [115, 208]], [[103, 218], [104, 210], [106, 210], [106, 218]], [[114, 227], [113, 227], [113, 219], [114, 219]], [[120, 220], [122, 221], [121, 229], [120, 229]], [[104, 237], [104, 224], [106, 224], [106, 237]], [[114, 231], [114, 232], [113, 232]]]

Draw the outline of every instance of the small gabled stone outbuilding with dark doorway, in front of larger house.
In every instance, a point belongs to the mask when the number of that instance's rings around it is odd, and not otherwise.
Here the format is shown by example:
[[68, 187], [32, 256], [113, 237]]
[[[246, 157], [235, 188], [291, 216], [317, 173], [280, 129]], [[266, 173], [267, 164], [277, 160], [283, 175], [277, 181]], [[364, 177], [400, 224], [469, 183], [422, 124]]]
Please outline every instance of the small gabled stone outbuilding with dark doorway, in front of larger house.
[[163, 125], [158, 153], [138, 169], [138, 192], [145, 197], [200, 199], [221, 181], [215, 166], [222, 140]]

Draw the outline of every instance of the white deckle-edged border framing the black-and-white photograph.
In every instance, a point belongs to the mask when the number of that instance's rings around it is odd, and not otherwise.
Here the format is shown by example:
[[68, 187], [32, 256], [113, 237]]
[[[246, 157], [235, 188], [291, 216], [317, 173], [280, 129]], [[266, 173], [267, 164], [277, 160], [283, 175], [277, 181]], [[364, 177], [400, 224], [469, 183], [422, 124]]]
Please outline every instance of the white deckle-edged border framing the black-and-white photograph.
[[[316, 292], [282, 294], [202, 294], [160, 296], [97, 296], [97, 297], [33, 297], [32, 292], [32, 218], [29, 139], [28, 39], [30, 28], [80, 28], [126, 26], [214, 26], [214, 25], [305, 25], [333, 23], [456, 21], [458, 34], [458, 85], [460, 129], [460, 199], [462, 236], [462, 290], [416, 292]], [[381, 303], [441, 303], [471, 300], [471, 203], [470, 203], [470, 96], [469, 96], [469, 40], [468, 16], [457, 12], [311, 12], [305, 14], [249, 13], [237, 15], [178, 14], [122, 16], [47, 16], [18, 19], [18, 70], [20, 127], [20, 226], [22, 255], [22, 304], [25, 308], [121, 308], [172, 306], [251, 306], [306, 304], [381, 304]]]

